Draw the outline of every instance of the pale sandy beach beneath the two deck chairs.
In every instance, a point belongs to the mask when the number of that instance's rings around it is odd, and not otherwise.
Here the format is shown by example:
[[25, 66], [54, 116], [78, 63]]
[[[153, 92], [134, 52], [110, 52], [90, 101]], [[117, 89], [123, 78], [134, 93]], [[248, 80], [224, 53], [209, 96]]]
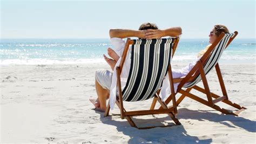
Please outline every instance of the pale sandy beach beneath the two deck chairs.
[[[173, 65], [174, 68], [182, 65]], [[95, 71], [106, 64], [1, 66], [1, 143], [255, 143], [255, 64], [221, 65], [230, 100], [248, 109], [221, 114], [190, 98], [178, 107], [182, 125], [139, 130], [120, 116], [96, 112]], [[213, 70], [210, 88], [220, 94]], [[201, 85], [201, 84], [200, 84]], [[152, 100], [124, 102], [149, 108]], [[220, 105], [231, 108], [227, 105]], [[119, 113], [117, 106], [112, 113]], [[173, 124], [166, 114], [136, 116], [138, 126]]]

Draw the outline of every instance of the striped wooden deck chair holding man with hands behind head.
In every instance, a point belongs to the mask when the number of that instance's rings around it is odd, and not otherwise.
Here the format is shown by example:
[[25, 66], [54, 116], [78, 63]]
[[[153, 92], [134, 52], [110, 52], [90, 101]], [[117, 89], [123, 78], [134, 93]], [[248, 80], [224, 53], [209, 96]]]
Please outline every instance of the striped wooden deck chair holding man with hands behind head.
[[[147, 129], [153, 127], [137, 127], [132, 116], [150, 115], [150, 114], [168, 114], [176, 125], [180, 122], [173, 114], [173, 110], [168, 108], [163, 100], [159, 97], [159, 90], [163, 79], [168, 70], [170, 70], [170, 61], [174, 54], [179, 38], [163, 38], [163, 39], [127, 39], [125, 50], [117, 70], [117, 90], [118, 97], [116, 105], [120, 109], [122, 119], [126, 118], [132, 127], [138, 129]], [[129, 77], [124, 90], [121, 89], [120, 73], [124, 65], [127, 51], [131, 45], [131, 67]], [[126, 111], [123, 101], [142, 101], [155, 98], [163, 109], [150, 109], [142, 111]], [[173, 105], [176, 106], [176, 99], [173, 97]], [[149, 105], [150, 107], [150, 105]], [[105, 116], [109, 116], [110, 103], [107, 105]]]

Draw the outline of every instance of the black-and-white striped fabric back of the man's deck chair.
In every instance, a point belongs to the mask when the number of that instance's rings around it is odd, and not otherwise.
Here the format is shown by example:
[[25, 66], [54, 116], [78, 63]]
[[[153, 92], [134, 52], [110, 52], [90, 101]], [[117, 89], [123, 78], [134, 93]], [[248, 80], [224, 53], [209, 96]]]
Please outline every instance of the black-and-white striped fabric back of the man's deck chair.
[[122, 91], [124, 101], [154, 97], [166, 76], [172, 47], [178, 38], [136, 39], [131, 46], [131, 68]]

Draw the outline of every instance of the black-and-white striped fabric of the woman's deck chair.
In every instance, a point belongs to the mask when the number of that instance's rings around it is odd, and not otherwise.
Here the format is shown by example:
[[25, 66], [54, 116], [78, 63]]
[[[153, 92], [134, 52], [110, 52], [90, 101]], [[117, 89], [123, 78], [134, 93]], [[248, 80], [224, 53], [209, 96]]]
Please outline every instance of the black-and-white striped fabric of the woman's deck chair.
[[[230, 38], [233, 37], [234, 35], [235, 35], [235, 33], [230, 33], [230, 34], [225, 33], [225, 36], [215, 46], [212, 53], [208, 56], [206, 63], [204, 64], [205, 74], [210, 72], [212, 70], [212, 68], [215, 67], [215, 65], [218, 63], [221, 55], [223, 54], [227, 45], [230, 43]], [[202, 79], [201, 75], [198, 74], [198, 76], [191, 83], [185, 84], [183, 87], [185, 87], [185, 88], [192, 87], [192, 86], [198, 84], [201, 79]]]

